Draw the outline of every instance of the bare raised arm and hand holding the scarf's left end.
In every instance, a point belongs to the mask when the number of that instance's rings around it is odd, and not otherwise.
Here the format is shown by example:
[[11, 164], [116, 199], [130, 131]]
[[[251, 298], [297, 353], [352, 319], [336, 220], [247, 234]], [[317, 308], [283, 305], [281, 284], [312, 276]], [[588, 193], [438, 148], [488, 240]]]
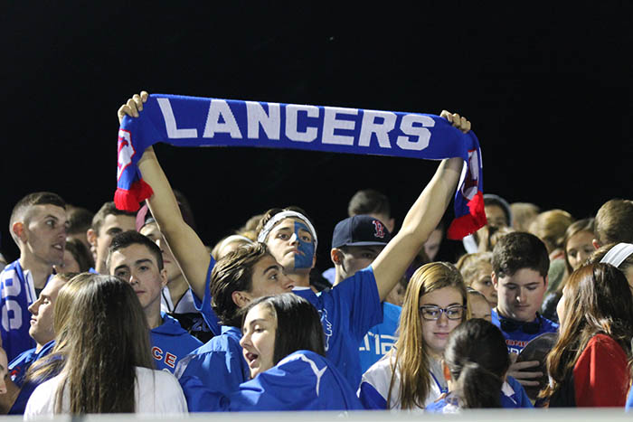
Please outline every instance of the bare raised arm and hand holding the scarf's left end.
[[[138, 117], [143, 110], [148, 94], [142, 91], [140, 95], [129, 98], [128, 102], [118, 109], [119, 122], [124, 116]], [[163, 172], [153, 147], [146, 149], [138, 161], [138, 169], [143, 179], [148, 183], [154, 194], [147, 200], [149, 210], [158, 224], [158, 228], [165, 237], [174, 258], [183, 272], [184, 278], [199, 299], [204, 297], [206, 276], [211, 257], [203, 241], [197, 233], [183, 220], [183, 215], [176, 202], [174, 191]]]

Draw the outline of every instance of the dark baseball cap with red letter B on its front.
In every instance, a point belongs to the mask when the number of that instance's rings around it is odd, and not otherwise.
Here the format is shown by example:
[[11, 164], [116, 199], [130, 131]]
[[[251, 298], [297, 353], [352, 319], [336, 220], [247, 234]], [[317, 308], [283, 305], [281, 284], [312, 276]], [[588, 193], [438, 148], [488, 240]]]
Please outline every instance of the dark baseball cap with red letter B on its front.
[[342, 246], [384, 246], [392, 234], [383, 221], [371, 215], [354, 215], [339, 221], [332, 235], [332, 248]]

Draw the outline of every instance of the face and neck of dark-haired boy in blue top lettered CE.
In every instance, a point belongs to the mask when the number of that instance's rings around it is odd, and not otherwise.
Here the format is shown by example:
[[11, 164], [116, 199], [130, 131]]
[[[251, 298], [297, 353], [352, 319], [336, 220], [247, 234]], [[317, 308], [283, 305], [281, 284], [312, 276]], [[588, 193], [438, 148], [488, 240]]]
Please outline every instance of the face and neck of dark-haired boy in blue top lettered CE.
[[167, 284], [167, 272], [158, 269], [156, 257], [145, 245], [135, 243], [112, 252], [109, 273], [132, 285], [146, 314], [160, 312], [160, 293]]

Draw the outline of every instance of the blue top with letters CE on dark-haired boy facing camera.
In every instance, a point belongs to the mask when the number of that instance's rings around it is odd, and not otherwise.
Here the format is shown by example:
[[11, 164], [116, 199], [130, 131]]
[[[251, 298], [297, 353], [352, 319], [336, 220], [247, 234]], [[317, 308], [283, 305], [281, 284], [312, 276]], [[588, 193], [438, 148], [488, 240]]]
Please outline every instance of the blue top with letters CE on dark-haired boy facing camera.
[[163, 324], [149, 333], [152, 357], [157, 370], [169, 370], [173, 373], [178, 361], [202, 346], [203, 342], [184, 331], [175, 318], [165, 313], [161, 313], [161, 316]]

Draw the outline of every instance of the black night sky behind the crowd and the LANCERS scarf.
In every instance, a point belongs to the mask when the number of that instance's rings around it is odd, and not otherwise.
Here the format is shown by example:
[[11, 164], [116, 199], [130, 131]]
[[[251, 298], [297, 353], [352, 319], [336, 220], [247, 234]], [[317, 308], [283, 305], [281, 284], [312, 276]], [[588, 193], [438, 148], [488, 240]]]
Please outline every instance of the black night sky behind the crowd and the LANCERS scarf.
[[[5, 2], [0, 250], [17, 258], [8, 220], [26, 193], [58, 192], [92, 211], [112, 200], [117, 109], [140, 89], [457, 111], [481, 142], [485, 192], [590, 216], [633, 196], [632, 25], [628, 1]], [[279, 150], [156, 152], [205, 242], [296, 204], [316, 220], [322, 268], [357, 189], [385, 192], [402, 222], [437, 166]], [[457, 248], [445, 243], [443, 257]]]

